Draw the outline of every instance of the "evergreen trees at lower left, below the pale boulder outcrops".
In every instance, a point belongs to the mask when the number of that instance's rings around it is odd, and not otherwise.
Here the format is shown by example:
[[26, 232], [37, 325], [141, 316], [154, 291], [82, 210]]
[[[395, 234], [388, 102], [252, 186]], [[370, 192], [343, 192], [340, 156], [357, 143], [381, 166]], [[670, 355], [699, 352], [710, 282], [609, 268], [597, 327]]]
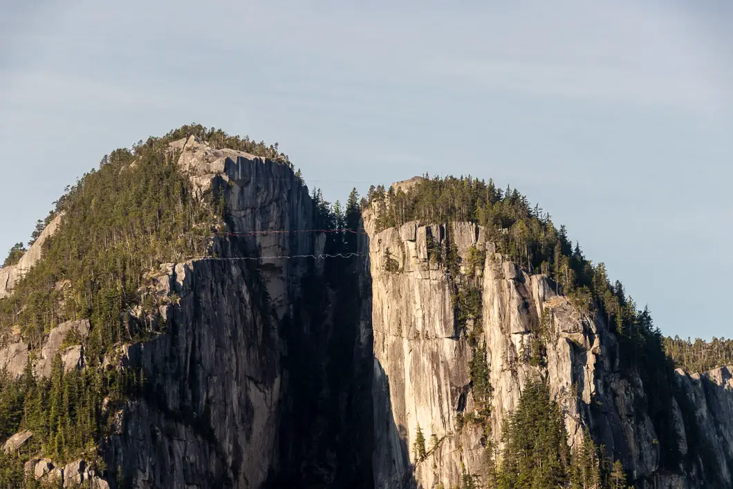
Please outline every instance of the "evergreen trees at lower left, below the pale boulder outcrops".
[[0, 371], [0, 439], [23, 430], [33, 433], [17, 452], [0, 454], [0, 487], [37, 487], [35, 481], [23, 482], [23, 463], [34, 454], [56, 464], [83, 457], [103, 470], [96, 441], [111, 432], [108, 414], [122, 400], [141, 394], [144, 382], [129, 369], [65, 372], [58, 353], [50, 378], [37, 378], [30, 359], [17, 380]]

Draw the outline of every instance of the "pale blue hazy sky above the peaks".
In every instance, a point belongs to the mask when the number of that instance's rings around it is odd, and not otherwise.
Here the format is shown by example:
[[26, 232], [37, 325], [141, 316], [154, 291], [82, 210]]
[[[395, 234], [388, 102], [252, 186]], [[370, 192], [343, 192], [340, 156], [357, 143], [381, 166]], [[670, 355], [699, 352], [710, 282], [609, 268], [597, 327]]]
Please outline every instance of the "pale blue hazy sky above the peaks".
[[665, 334], [733, 337], [732, 25], [729, 0], [0, 0], [0, 253], [106, 153], [200, 122], [331, 201], [511, 184]]

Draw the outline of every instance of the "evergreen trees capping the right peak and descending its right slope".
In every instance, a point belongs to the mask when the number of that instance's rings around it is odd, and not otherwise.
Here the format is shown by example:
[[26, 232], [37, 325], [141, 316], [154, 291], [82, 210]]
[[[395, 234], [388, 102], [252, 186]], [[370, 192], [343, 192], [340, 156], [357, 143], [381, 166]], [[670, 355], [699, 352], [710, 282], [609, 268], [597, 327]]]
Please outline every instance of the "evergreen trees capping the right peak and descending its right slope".
[[663, 446], [661, 465], [677, 468], [681, 455], [674, 448], [676, 434], [671, 429], [674, 363], [666, 356], [662, 334], [649, 309], [639, 309], [621, 282], [611, 283], [602, 262], [594, 265], [586, 260], [564, 226], [555, 227], [548, 213], [539, 205], [532, 207], [516, 189], [501, 190], [492, 180], [487, 183], [470, 176], [430, 178], [426, 174], [407, 192], [372, 187], [364, 204], [375, 210], [379, 229], [408, 221], [479, 224], [499, 253], [527, 273], [547, 274], [556, 291], [567, 295], [578, 309], [603, 317], [619, 342], [622, 374], [639, 375], [644, 383], [646, 400], [636, 408], [652, 419]]

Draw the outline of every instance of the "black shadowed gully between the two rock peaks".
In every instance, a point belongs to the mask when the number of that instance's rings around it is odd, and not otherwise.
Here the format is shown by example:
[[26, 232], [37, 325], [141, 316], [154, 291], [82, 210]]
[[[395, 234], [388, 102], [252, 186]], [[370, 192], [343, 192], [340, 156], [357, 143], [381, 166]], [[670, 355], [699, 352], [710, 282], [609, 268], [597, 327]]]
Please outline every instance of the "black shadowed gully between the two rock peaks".
[[[299, 284], [301, 299], [281, 325], [281, 456], [268, 488], [372, 489], [395, 473], [391, 467], [399, 468], [399, 481], [382, 488], [417, 488], [407, 430], [394, 421], [386, 375], [374, 357], [368, 238], [329, 237], [325, 244], [326, 253], [357, 250], [362, 257], [313, 260]], [[375, 375], [382, 375], [380, 388]]]

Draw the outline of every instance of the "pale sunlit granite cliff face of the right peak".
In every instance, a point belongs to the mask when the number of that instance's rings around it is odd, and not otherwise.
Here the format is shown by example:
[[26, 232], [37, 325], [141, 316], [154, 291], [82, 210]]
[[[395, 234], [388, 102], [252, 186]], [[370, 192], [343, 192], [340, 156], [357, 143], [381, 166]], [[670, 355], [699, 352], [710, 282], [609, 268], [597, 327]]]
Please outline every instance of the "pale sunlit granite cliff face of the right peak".
[[[462, 467], [485, 476], [489, 440], [482, 439], [481, 427], [463, 422], [476, 408], [471, 351], [457, 329], [446, 269], [429, 258], [428, 243], [443, 245], [446, 239], [456, 246], [463, 273], [471, 247], [486, 252], [477, 274], [493, 386], [490, 438], [496, 446], [501, 448], [502, 424], [528, 378], [546, 378], [564, 412], [571, 446], [582, 443], [587, 427], [614, 460], [622, 460], [637, 488], [731, 487], [730, 368], [705, 375], [677, 372], [685, 406], [680, 410], [675, 400], [673, 419], [685, 463], [674, 471], [661, 468], [660, 437], [649, 416], [636, 408], [647, 393], [638, 374], [620, 371], [619, 345], [603, 317], [578, 312], [546, 276], [528, 275], [495, 253], [474, 224], [410, 222], [377, 230], [367, 210], [364, 225], [372, 278], [375, 487], [459, 486]], [[543, 311], [551, 318], [546, 367], [531, 367], [524, 352]], [[426, 440], [433, 439], [424, 460], [413, 452], [418, 427]], [[704, 460], [699, 447], [712, 458]]]

